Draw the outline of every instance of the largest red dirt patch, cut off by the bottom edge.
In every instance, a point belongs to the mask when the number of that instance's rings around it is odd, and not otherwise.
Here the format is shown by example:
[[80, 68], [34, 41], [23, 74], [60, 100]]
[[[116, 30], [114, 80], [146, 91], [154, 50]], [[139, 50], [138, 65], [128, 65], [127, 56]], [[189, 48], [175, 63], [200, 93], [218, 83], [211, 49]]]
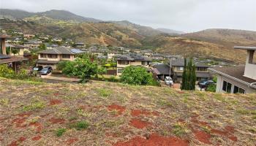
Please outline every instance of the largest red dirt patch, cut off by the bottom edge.
[[189, 143], [185, 140], [176, 137], [161, 137], [157, 134], [151, 134], [148, 139], [142, 137], [134, 137], [128, 142], [117, 142], [114, 146], [188, 146]]

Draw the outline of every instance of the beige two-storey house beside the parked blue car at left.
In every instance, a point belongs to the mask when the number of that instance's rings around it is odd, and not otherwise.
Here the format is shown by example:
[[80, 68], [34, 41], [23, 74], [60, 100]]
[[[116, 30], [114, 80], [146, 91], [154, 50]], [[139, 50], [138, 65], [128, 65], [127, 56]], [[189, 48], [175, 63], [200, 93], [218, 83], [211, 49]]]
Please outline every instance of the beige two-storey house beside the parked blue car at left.
[[59, 61], [74, 61], [75, 53], [67, 47], [56, 47], [38, 53], [37, 66], [52, 66], [56, 69]]

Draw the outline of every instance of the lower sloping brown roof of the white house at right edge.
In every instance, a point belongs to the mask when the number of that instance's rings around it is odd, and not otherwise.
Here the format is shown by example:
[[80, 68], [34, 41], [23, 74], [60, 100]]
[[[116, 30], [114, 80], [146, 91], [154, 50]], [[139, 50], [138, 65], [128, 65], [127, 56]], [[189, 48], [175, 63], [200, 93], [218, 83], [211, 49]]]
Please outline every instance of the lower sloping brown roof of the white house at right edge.
[[256, 82], [256, 80], [251, 79], [249, 77], [244, 77], [244, 68], [245, 66], [230, 66], [230, 67], [214, 67], [210, 69], [212, 72], [216, 72], [217, 74], [222, 74], [224, 76], [231, 76], [238, 80], [252, 83]]

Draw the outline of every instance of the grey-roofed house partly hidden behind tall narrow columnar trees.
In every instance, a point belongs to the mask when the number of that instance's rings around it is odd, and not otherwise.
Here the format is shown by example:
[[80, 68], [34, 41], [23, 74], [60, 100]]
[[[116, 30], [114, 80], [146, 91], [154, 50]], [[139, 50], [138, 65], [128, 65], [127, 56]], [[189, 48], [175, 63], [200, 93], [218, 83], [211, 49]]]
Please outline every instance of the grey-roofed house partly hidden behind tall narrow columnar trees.
[[[182, 74], [184, 71], [184, 58], [170, 59], [170, 62], [168, 62], [167, 65], [171, 66], [171, 69], [173, 71], [173, 74], [171, 74], [171, 77], [173, 78], [173, 80], [176, 82], [181, 82]], [[208, 65], [203, 64], [201, 62], [195, 62], [195, 67], [196, 67], [195, 72], [197, 76], [197, 81], [212, 79], [212, 76], [208, 71], [208, 68], [209, 68]]]

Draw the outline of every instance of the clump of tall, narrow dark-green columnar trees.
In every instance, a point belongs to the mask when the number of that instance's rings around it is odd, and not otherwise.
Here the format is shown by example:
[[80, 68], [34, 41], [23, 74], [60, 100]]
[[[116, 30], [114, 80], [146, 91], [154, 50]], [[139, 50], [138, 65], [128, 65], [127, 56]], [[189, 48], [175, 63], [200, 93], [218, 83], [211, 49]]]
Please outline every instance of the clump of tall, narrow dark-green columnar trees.
[[195, 91], [196, 82], [195, 64], [193, 64], [192, 58], [184, 59], [184, 72], [182, 74], [181, 90]]

